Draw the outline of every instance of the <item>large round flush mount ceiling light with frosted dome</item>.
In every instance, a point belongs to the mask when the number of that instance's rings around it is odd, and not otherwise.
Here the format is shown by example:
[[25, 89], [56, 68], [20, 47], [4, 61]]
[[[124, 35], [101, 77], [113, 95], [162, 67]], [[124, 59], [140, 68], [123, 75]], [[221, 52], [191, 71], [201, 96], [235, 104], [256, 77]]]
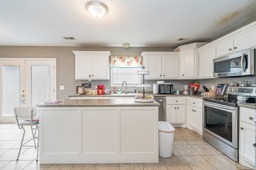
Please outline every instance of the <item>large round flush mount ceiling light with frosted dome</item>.
[[96, 18], [100, 18], [108, 12], [108, 7], [99, 1], [88, 2], [86, 8]]

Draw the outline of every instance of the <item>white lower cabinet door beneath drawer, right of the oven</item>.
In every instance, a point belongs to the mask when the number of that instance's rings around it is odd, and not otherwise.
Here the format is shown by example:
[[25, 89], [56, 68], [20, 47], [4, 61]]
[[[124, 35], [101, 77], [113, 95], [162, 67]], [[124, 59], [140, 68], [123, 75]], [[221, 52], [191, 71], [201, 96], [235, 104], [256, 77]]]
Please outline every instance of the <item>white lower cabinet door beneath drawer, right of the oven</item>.
[[[242, 128], [242, 129], [241, 129]], [[240, 155], [249, 160], [253, 165], [255, 161], [255, 126], [240, 123]]]

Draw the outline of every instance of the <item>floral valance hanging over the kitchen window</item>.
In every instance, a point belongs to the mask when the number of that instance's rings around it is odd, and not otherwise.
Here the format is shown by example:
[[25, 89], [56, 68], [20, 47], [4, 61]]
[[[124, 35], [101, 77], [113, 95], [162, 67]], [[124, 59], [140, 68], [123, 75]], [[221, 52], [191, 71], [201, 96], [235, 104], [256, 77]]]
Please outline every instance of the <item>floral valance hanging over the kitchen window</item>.
[[141, 57], [130, 57], [130, 56], [111, 56], [110, 57], [110, 68], [135, 68], [142, 67]]

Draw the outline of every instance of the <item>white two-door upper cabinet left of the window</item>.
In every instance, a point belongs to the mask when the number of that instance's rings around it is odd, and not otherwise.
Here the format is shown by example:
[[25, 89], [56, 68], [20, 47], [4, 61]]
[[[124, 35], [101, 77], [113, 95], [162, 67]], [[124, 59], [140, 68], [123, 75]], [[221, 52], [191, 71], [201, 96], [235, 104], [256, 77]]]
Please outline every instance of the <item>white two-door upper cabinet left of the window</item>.
[[109, 80], [110, 51], [73, 51], [75, 79]]

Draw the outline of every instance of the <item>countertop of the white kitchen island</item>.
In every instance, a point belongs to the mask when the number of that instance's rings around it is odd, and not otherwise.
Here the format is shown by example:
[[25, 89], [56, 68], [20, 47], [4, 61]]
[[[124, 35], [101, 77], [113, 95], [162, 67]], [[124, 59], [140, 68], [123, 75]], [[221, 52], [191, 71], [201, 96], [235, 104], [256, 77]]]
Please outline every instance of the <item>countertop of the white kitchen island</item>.
[[154, 102], [135, 102], [133, 98], [123, 99], [64, 99], [57, 104], [37, 104], [36, 107], [90, 107], [90, 106], [160, 106]]

